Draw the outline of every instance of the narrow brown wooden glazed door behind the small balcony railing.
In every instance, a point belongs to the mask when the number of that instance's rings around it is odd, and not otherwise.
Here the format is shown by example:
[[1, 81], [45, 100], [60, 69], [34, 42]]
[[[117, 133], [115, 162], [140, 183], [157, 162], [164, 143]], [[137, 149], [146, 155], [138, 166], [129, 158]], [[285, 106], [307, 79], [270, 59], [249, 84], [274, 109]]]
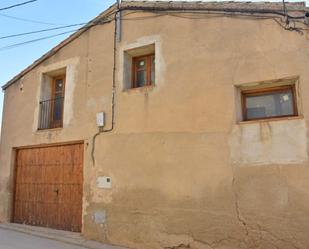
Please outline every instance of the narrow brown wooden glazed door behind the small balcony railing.
[[55, 77], [52, 84], [51, 128], [62, 127], [65, 76]]

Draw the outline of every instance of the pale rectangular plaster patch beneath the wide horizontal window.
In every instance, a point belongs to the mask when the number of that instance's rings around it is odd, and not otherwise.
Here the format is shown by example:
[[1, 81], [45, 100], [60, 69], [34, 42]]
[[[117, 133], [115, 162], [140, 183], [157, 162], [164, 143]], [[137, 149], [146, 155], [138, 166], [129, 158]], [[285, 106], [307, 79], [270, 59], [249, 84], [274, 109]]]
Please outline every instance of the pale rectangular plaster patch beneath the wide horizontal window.
[[304, 119], [235, 125], [229, 139], [234, 164], [299, 164], [308, 160]]

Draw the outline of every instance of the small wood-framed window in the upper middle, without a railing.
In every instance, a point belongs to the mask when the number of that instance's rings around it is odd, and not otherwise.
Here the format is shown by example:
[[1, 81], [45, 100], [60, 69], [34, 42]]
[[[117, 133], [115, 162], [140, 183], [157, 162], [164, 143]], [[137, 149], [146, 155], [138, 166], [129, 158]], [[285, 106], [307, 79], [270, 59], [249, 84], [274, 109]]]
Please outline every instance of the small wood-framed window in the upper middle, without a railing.
[[150, 86], [155, 83], [155, 55], [133, 57], [132, 88]]

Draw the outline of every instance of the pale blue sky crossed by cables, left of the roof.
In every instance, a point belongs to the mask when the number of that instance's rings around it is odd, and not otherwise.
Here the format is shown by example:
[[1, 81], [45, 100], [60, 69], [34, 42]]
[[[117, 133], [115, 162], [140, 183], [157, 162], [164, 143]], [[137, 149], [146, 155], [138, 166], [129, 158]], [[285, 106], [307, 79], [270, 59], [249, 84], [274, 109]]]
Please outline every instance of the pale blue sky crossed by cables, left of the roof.
[[[24, 2], [25, 0], [1, 0], [0, 8]], [[70, 25], [90, 21], [100, 12], [111, 6], [115, 0], [38, 0], [28, 5], [0, 11], [0, 37], [18, 34], [28, 31], [54, 28], [62, 25]], [[18, 18], [31, 19], [59, 25], [47, 25], [14, 20], [3, 15]], [[39, 41], [21, 47], [2, 50], [2, 47], [15, 43], [37, 39], [43, 36], [62, 33], [72, 30], [56, 30], [36, 35], [0, 39], [0, 84], [3, 85], [21, 70], [39, 58], [49, 49], [53, 48], [68, 35]], [[0, 93], [0, 120], [2, 116], [3, 93]]]

